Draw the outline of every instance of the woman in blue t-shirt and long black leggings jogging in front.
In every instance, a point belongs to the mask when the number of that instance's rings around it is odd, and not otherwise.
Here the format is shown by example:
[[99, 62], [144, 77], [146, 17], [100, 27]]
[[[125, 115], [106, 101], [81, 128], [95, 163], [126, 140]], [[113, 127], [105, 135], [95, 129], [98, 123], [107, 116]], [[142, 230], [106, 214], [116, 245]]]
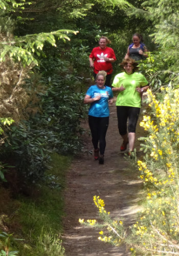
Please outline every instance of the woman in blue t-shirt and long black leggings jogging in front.
[[[90, 104], [88, 111], [88, 123], [92, 133], [94, 146], [94, 158], [99, 164], [104, 163], [104, 151], [106, 147], [106, 132], [109, 124], [109, 104], [113, 103], [113, 91], [104, 85], [106, 72], [99, 71], [96, 75], [96, 84], [89, 87], [84, 97], [84, 104]], [[99, 148], [98, 148], [99, 143]]]

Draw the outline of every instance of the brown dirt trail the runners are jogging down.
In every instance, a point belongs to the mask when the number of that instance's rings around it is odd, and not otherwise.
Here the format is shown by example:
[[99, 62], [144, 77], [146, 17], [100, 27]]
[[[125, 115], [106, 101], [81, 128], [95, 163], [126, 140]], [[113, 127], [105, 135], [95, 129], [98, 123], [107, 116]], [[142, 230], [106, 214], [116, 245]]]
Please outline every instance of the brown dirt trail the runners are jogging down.
[[[88, 124], [83, 124], [88, 128]], [[137, 127], [137, 137], [141, 129]], [[120, 153], [122, 140], [117, 128], [116, 106], [110, 106], [109, 127], [106, 135], [104, 165], [99, 165], [93, 155], [84, 154], [76, 159], [67, 176], [63, 246], [66, 256], [128, 256], [124, 246], [115, 248], [98, 240], [99, 231], [81, 226], [78, 219], [98, 219], [93, 196], [100, 196], [110, 216], [124, 219], [126, 226], [135, 221], [139, 209], [137, 202], [141, 182], [127, 170], [128, 160]], [[136, 140], [139, 151], [140, 142]], [[91, 137], [85, 135], [85, 149], [93, 152]]]

